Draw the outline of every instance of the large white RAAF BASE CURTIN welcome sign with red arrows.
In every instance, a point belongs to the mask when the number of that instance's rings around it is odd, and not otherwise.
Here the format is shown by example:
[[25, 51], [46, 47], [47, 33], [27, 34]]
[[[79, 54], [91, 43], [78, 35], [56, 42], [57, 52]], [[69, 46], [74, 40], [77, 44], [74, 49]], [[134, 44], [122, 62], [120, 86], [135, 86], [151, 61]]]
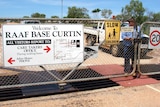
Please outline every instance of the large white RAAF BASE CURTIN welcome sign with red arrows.
[[82, 62], [83, 25], [3, 25], [4, 66]]

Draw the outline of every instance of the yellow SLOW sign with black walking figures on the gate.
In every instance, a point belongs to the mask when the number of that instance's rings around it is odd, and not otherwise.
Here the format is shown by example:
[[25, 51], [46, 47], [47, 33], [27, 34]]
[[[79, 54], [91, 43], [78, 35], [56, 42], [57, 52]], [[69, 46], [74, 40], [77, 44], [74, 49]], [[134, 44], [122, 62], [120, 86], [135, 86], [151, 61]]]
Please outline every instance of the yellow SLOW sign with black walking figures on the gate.
[[105, 43], [118, 44], [120, 39], [120, 21], [105, 21]]

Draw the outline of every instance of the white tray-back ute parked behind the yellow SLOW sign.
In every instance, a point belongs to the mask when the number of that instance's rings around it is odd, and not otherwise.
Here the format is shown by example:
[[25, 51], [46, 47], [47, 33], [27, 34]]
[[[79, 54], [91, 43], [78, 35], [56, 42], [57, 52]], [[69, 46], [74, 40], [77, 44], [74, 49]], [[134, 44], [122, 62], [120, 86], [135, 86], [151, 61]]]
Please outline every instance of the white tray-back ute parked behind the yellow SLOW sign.
[[[88, 45], [95, 45], [96, 43], [102, 44], [105, 40], [105, 22], [98, 22], [97, 27], [84, 27], [84, 33], [86, 34], [86, 41]], [[121, 27], [129, 26], [128, 22], [121, 23]], [[120, 33], [121, 34], [121, 33]], [[149, 36], [146, 34], [141, 35], [142, 45], [141, 45], [141, 56], [146, 55], [148, 47]], [[113, 56], [122, 56], [123, 53], [123, 39], [120, 36], [120, 43], [117, 45], [100, 45], [100, 47], [108, 49]]]

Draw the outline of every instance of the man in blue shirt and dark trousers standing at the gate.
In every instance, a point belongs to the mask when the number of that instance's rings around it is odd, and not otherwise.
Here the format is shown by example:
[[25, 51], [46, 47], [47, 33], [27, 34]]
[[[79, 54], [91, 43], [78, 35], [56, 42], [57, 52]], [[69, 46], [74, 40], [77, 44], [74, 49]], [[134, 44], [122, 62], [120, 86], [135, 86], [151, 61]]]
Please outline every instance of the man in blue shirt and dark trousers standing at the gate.
[[[136, 37], [136, 23], [134, 18], [130, 18], [127, 20], [129, 22], [129, 26], [133, 26], [133, 32], [123, 32], [122, 39], [124, 45], [124, 72], [125, 74], [129, 74], [133, 70], [134, 64], [134, 38]], [[130, 62], [131, 61], [131, 62]]]

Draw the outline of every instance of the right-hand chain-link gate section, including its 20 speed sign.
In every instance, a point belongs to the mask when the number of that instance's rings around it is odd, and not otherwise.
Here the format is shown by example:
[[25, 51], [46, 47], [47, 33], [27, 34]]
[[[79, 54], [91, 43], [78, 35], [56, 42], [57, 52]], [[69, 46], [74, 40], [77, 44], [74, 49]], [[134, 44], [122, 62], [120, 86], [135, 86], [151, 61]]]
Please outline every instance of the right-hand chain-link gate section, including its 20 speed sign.
[[147, 43], [147, 45], [139, 44], [139, 47], [142, 48], [144, 54], [139, 51], [138, 69], [143, 75], [153, 75], [160, 73], [159, 33], [155, 32], [152, 34], [152, 32], [158, 31], [159, 27], [159, 22], [144, 22], [141, 25], [142, 34], [146, 33], [148, 35], [148, 38], [144, 38], [142, 41], [142, 43]]

